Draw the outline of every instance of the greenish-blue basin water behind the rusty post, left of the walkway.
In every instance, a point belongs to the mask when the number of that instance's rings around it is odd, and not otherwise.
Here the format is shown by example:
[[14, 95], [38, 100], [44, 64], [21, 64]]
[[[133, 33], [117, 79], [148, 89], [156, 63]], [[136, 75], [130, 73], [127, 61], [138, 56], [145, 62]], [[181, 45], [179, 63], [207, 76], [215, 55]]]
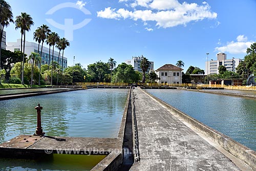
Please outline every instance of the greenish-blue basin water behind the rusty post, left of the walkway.
[[37, 103], [49, 136], [117, 137], [126, 89], [89, 89], [0, 101], [0, 143], [36, 128]]

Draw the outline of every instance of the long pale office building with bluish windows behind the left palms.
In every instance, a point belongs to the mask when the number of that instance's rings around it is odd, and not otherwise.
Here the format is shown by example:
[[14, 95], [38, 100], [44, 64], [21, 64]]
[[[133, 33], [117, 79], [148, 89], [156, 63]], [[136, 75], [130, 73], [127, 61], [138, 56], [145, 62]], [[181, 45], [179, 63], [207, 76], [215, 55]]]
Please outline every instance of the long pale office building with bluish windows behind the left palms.
[[[45, 42], [44, 42], [44, 45], [46, 45]], [[38, 44], [36, 44], [35, 42], [26, 41], [25, 54], [27, 54], [29, 56], [31, 54], [31, 52], [38, 53], [37, 49], [38, 49]], [[56, 48], [54, 48], [54, 49], [56, 49]], [[17, 42], [8, 42], [6, 50], [9, 50], [9, 51], [12, 51], [12, 52], [20, 51], [20, 39], [17, 39]], [[41, 51], [41, 46], [39, 46], [39, 54], [40, 54], [40, 51]], [[51, 54], [51, 56], [50, 56], [50, 63], [51, 63], [51, 61], [52, 61], [52, 47], [51, 47], [50, 54]], [[54, 53], [53, 53], [53, 56], [54, 56], [53, 60], [54, 61], [58, 61], [58, 55], [59, 55], [59, 52], [54, 51]], [[42, 65], [45, 65], [45, 64], [48, 65], [49, 64], [49, 48], [47, 48], [45, 46], [42, 47], [41, 64]], [[60, 64], [60, 66], [62, 64], [61, 52], [60, 52], [60, 56], [59, 56], [59, 64]], [[68, 59], [66, 57], [63, 57], [63, 69], [67, 68], [67, 66], [68, 66]]]

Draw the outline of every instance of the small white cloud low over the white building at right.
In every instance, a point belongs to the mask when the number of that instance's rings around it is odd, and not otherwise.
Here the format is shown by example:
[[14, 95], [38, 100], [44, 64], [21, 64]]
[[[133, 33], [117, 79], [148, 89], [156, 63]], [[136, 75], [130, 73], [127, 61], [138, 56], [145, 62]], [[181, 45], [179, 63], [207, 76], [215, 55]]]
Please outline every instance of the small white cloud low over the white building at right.
[[246, 53], [247, 48], [253, 44], [253, 41], [247, 41], [247, 37], [239, 35], [237, 41], [227, 42], [226, 46], [216, 47], [215, 51], [228, 52], [230, 54]]

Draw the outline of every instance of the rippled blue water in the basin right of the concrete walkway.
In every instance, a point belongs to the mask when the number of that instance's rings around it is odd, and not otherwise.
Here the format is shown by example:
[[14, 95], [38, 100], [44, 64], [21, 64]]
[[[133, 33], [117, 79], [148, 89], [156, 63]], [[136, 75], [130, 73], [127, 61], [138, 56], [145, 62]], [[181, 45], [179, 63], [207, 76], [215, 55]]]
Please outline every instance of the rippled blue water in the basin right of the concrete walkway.
[[256, 100], [182, 90], [146, 90], [256, 151]]

